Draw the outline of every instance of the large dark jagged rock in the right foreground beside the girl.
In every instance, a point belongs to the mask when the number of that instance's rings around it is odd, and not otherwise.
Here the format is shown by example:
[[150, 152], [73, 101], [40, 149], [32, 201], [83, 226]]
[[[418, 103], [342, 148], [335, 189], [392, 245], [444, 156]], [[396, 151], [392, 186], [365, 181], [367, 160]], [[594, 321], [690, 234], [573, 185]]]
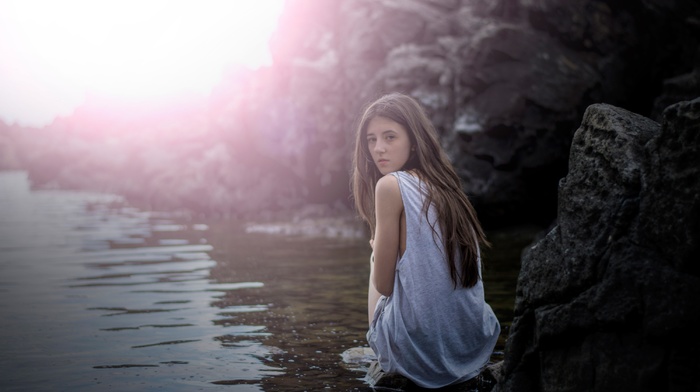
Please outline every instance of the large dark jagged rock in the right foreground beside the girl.
[[499, 391], [700, 390], [700, 98], [592, 105], [527, 249]]

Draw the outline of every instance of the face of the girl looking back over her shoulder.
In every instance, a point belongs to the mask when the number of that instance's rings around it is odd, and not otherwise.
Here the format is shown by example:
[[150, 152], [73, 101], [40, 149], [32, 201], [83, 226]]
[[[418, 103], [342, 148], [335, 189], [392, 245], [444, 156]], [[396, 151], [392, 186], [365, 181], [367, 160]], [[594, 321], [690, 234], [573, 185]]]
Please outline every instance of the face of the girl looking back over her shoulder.
[[374, 117], [367, 124], [367, 146], [382, 175], [401, 170], [411, 156], [411, 139], [399, 123]]

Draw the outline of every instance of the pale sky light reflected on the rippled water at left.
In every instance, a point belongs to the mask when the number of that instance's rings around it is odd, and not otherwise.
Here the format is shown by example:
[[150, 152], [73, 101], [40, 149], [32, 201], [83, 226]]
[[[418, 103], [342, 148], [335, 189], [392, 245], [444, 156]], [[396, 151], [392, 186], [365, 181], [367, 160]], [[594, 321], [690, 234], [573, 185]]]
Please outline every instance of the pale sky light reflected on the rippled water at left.
[[31, 192], [0, 174], [2, 390], [261, 390], [264, 325], [212, 306], [260, 281], [211, 279], [208, 227], [139, 211], [115, 196]]

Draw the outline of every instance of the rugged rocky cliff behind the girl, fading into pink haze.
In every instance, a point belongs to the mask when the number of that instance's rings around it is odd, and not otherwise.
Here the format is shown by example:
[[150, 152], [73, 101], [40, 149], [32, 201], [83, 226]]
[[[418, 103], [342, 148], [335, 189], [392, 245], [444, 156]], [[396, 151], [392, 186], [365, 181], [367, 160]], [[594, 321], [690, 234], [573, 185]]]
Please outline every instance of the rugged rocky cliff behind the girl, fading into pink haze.
[[[274, 64], [232, 70], [180, 125], [177, 105], [156, 123], [85, 107], [49, 127], [66, 150], [31, 141], [22, 164], [205, 212], [348, 205], [355, 119], [399, 90], [429, 109], [483, 220], [549, 222], [589, 104], [658, 116], [700, 95], [699, 20], [692, 0], [289, 0]], [[86, 141], [84, 128], [114, 132]]]

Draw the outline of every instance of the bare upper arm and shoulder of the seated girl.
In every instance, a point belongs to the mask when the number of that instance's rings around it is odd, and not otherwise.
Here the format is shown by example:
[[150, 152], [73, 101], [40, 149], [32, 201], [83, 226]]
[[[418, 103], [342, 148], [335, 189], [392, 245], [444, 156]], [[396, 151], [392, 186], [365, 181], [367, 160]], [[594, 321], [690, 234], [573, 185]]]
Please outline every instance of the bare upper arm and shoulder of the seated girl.
[[374, 196], [376, 229], [374, 233], [374, 287], [385, 296], [394, 291], [396, 259], [399, 254], [403, 200], [396, 177], [379, 179]]

